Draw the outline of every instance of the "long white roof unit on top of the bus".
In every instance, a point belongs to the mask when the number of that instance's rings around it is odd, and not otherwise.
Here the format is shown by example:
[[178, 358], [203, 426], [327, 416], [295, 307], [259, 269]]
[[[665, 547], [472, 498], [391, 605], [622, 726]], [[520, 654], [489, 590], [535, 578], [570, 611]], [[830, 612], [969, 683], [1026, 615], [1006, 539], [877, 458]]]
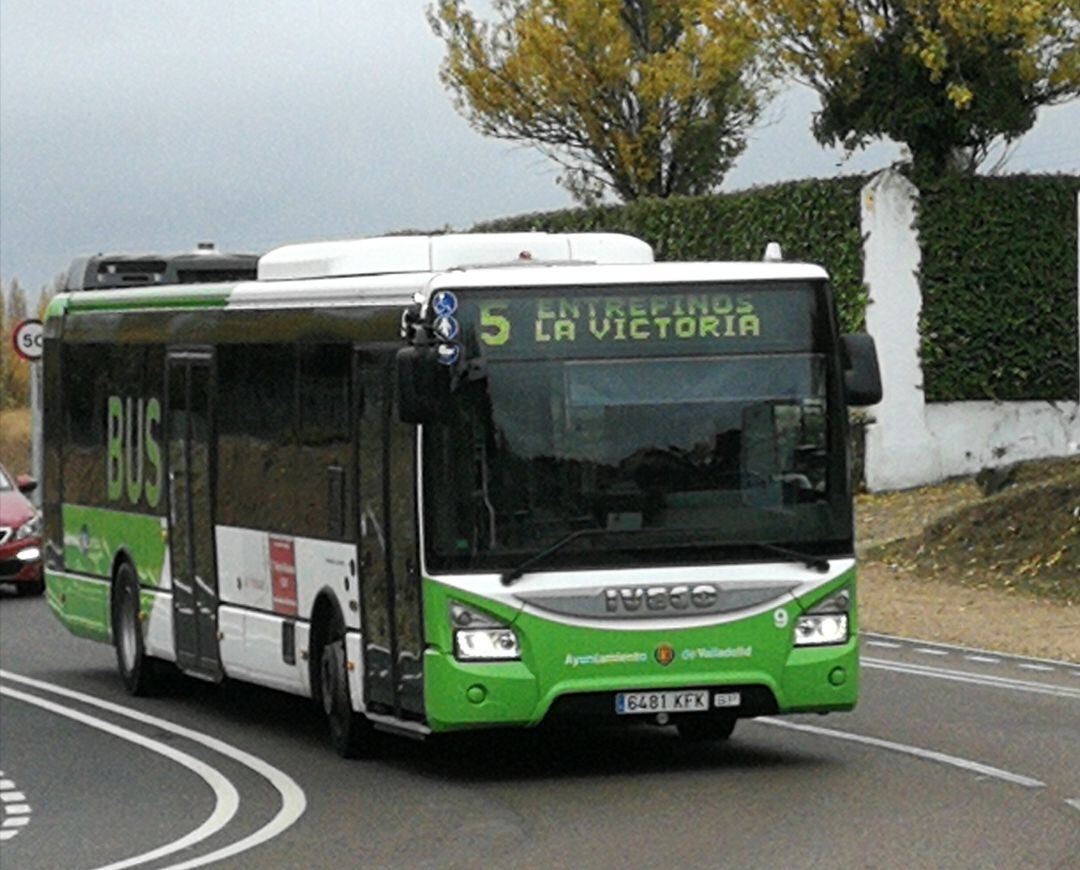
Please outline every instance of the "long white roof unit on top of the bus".
[[514, 262], [652, 262], [652, 248], [622, 233], [386, 235], [285, 245], [259, 259], [259, 281], [444, 272]]

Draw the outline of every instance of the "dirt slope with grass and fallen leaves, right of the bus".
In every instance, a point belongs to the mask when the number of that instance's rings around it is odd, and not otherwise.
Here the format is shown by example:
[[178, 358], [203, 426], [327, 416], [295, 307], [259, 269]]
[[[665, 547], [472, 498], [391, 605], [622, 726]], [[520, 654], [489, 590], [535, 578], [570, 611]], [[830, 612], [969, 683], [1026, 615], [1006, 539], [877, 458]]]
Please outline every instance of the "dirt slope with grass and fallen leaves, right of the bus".
[[1080, 458], [856, 504], [865, 629], [1080, 662]]

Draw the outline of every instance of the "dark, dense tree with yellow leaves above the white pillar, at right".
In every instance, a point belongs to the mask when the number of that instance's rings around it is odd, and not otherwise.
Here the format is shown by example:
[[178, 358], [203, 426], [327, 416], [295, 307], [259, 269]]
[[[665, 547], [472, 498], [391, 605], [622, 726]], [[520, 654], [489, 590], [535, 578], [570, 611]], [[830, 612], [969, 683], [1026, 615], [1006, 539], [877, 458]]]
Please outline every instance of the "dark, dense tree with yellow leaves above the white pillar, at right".
[[1040, 106], [1080, 93], [1080, 0], [761, 0], [780, 60], [818, 91], [814, 135], [905, 142], [916, 177], [974, 171]]

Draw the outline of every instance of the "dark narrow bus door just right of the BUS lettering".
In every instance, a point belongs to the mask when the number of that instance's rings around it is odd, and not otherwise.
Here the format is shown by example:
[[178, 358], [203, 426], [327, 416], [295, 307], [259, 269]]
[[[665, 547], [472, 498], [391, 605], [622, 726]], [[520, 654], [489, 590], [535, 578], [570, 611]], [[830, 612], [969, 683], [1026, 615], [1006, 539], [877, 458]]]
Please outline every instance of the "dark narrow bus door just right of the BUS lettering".
[[211, 477], [212, 362], [208, 350], [170, 353], [166, 451], [176, 663], [188, 674], [219, 680]]

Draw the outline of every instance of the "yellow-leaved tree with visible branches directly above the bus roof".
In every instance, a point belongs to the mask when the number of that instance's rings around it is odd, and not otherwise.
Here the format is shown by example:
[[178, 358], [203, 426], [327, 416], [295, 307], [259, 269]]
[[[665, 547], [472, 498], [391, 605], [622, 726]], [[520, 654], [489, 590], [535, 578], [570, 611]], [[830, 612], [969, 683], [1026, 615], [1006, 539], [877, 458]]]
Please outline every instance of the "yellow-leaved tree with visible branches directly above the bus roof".
[[428, 13], [441, 77], [472, 126], [528, 142], [580, 202], [716, 188], [767, 89], [743, 0], [464, 0]]

